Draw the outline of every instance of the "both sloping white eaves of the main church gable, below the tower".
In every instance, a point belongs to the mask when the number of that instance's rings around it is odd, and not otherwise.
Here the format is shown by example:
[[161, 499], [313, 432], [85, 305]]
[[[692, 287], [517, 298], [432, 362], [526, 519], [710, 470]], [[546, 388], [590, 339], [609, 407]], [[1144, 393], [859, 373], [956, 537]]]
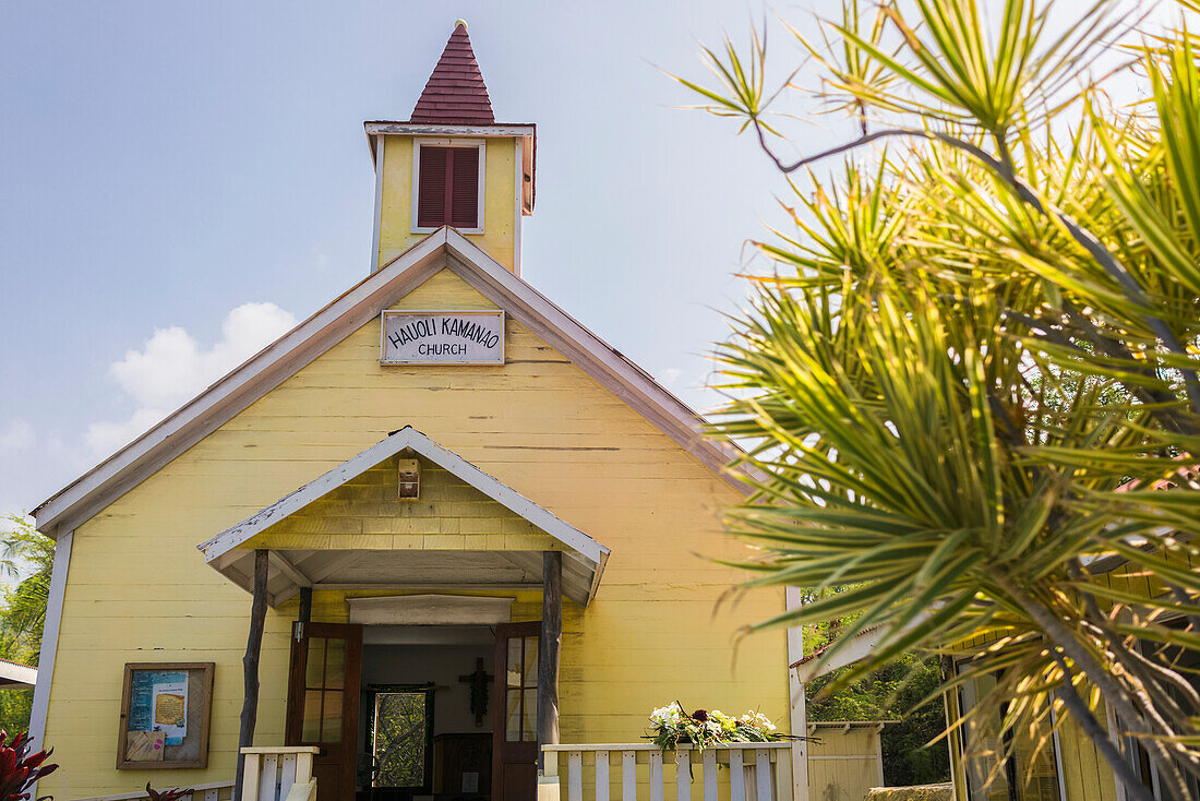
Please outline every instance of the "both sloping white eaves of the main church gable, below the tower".
[[55, 538], [73, 531], [442, 269], [462, 277], [728, 484], [749, 492], [725, 470], [740, 453], [733, 443], [707, 437], [700, 417], [649, 373], [457, 231], [443, 227], [38, 504], [32, 512], [38, 531]]

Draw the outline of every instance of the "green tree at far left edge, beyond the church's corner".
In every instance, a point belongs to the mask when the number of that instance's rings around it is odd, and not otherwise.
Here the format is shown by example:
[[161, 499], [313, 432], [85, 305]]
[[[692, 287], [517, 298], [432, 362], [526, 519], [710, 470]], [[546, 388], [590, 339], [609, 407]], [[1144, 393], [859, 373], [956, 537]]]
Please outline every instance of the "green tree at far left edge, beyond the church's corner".
[[[0, 657], [36, 666], [42, 651], [54, 542], [18, 515], [8, 515], [5, 522], [7, 531], [0, 532], [0, 572], [14, 584], [6, 586], [0, 597]], [[32, 689], [0, 688], [0, 729], [26, 730], [32, 697]]]

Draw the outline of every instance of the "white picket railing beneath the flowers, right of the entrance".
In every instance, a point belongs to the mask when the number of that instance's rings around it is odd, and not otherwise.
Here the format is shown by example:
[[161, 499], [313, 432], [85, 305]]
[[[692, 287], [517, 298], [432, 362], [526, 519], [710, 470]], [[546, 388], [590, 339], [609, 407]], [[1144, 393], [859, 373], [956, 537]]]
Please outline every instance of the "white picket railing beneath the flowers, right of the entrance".
[[[620, 801], [664, 801], [671, 765], [676, 801], [691, 801], [694, 782], [702, 784], [703, 801], [718, 801], [722, 783], [728, 784], [730, 801], [792, 801], [790, 749], [787, 742], [732, 742], [703, 751], [682, 746], [667, 752], [647, 742], [542, 746], [539, 801], [563, 799], [564, 783], [565, 801], [583, 801], [586, 783], [592, 799], [610, 801], [614, 766], [619, 766]], [[565, 771], [560, 771], [563, 755]], [[641, 771], [643, 788], [638, 787], [638, 765], [649, 765]]]

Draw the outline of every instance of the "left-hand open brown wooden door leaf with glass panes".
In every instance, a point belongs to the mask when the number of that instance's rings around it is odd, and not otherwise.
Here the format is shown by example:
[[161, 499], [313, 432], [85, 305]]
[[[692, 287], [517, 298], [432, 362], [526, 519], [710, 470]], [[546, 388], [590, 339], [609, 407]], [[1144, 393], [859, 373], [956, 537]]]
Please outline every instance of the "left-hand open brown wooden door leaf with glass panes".
[[289, 746], [317, 746], [317, 801], [354, 801], [362, 627], [294, 623], [288, 673]]

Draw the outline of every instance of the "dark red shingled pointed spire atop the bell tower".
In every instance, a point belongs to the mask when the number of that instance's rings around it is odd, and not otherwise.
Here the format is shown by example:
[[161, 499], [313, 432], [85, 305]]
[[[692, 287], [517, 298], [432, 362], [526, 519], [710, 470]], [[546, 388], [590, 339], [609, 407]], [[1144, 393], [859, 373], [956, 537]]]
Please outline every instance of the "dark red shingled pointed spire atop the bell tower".
[[416, 101], [410, 122], [493, 125], [492, 101], [487, 97], [484, 76], [475, 62], [467, 36], [467, 23], [458, 20], [446, 49], [433, 67], [421, 98]]

